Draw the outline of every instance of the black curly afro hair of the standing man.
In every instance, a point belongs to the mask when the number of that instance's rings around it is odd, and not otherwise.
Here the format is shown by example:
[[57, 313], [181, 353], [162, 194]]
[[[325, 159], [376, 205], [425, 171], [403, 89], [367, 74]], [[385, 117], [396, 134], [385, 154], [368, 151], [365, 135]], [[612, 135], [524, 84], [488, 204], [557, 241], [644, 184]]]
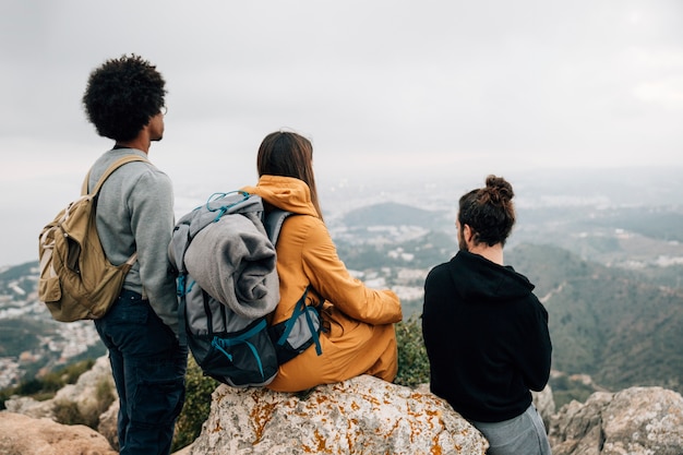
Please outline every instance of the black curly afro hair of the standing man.
[[164, 107], [166, 81], [140, 56], [121, 56], [95, 69], [87, 81], [83, 107], [100, 136], [133, 140]]

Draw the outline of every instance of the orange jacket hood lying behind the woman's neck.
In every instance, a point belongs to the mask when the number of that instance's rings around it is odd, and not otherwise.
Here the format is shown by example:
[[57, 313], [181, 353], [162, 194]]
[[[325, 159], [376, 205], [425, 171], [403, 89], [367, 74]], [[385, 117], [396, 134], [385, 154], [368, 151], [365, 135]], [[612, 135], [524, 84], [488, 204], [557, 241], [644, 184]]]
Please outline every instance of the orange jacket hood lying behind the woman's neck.
[[261, 176], [256, 187], [244, 187], [242, 191], [260, 195], [266, 203], [287, 212], [317, 217], [311, 202], [311, 190], [303, 180], [293, 177]]

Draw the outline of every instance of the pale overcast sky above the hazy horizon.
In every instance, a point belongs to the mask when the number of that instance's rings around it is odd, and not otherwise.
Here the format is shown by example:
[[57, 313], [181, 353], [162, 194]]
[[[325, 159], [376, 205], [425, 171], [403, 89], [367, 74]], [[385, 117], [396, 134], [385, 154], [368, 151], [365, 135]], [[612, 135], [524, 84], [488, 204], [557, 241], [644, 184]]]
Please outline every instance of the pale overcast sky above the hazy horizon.
[[81, 97], [122, 53], [167, 81], [149, 157], [179, 200], [254, 183], [283, 128], [313, 141], [320, 185], [683, 167], [679, 0], [3, 0], [0, 34], [0, 266], [36, 259], [111, 146]]

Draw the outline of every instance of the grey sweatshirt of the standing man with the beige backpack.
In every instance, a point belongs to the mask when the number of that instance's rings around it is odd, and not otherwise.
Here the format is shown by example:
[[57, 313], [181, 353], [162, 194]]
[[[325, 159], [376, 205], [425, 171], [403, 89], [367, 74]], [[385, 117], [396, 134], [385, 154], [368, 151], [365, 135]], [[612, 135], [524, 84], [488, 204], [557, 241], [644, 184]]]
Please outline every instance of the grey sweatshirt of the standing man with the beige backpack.
[[[107, 167], [127, 155], [147, 155], [134, 148], [106, 152], [91, 170], [92, 190]], [[168, 244], [173, 229], [173, 189], [168, 176], [154, 165], [123, 165], [105, 182], [97, 201], [97, 232], [109, 261], [119, 265], [135, 251], [137, 261], [123, 287], [142, 294], [158, 316], [178, 334], [176, 278], [169, 272]]]

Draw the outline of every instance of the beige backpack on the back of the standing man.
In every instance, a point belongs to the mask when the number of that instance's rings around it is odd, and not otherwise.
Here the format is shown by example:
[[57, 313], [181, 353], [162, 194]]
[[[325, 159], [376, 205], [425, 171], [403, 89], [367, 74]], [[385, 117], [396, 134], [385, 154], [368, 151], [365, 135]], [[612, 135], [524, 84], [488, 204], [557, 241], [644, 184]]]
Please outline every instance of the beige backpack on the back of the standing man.
[[137, 253], [119, 266], [112, 265], [97, 236], [95, 206], [105, 180], [127, 163], [146, 161], [128, 155], [113, 163], [95, 189], [87, 192], [85, 177], [82, 196], [59, 212], [38, 237], [40, 278], [38, 299], [61, 322], [99, 319], [107, 313], [123, 286], [123, 278], [137, 259]]

